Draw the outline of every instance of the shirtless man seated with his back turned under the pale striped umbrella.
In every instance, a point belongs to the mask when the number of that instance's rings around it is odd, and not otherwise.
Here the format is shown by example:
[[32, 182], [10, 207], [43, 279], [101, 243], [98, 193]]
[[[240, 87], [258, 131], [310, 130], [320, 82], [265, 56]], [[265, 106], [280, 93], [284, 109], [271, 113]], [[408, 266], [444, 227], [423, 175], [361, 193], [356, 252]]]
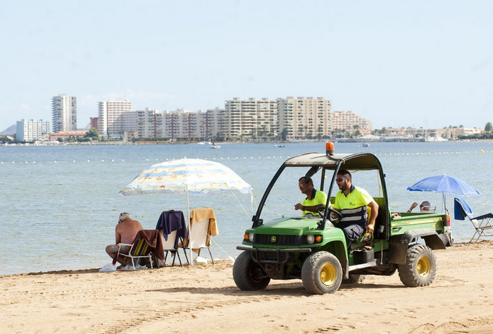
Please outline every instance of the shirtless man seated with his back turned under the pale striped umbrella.
[[[120, 248], [119, 244], [131, 244], [135, 239], [135, 235], [139, 230], [144, 230], [142, 228], [142, 224], [139, 221], [134, 221], [130, 218], [130, 214], [127, 212], [122, 212], [120, 214], [120, 218], [118, 218], [118, 224], [115, 228], [116, 235], [116, 245], [109, 245], [106, 247], [106, 253], [111, 256], [111, 259], [115, 259], [116, 254], [118, 253], [118, 248]], [[130, 251], [130, 246], [122, 246], [122, 252]], [[127, 259], [124, 256], [118, 256], [117, 261], [122, 264], [122, 266], [127, 265]], [[113, 261], [115, 264], [115, 261]]]

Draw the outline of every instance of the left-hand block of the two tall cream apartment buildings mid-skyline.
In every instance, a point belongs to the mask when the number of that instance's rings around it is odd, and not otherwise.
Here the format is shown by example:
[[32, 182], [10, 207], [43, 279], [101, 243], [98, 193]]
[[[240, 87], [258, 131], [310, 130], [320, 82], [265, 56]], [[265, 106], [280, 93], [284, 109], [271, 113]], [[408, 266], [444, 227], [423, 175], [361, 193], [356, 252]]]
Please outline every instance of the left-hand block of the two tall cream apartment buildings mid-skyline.
[[277, 100], [235, 97], [225, 103], [228, 137], [257, 137], [279, 133]]

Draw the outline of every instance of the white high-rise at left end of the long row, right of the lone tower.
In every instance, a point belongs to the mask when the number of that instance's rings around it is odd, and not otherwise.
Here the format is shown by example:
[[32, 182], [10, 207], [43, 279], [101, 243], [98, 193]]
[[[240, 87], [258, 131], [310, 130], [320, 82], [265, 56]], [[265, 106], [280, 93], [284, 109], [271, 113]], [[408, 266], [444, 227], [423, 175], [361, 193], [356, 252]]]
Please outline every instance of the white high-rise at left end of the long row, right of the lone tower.
[[110, 137], [123, 137], [126, 130], [137, 129], [137, 112], [132, 110], [129, 99], [101, 101], [99, 109], [99, 134]]

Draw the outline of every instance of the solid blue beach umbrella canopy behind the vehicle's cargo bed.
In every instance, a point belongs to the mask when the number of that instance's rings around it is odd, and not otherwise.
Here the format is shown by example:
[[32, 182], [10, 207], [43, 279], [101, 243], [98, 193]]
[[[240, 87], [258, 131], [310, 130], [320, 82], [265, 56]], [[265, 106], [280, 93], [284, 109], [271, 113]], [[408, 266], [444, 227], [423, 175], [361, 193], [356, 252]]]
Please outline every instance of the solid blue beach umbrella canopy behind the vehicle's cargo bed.
[[480, 192], [460, 178], [449, 175], [430, 176], [411, 185], [407, 190], [412, 192], [439, 192], [442, 194], [458, 194], [462, 196], [478, 195]]

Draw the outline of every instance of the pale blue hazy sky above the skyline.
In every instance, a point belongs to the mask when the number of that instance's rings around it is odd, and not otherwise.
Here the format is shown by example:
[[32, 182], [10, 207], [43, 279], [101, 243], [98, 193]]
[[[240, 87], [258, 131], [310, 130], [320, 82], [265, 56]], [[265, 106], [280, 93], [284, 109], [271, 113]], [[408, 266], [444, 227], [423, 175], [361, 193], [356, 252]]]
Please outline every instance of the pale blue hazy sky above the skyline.
[[[383, 126], [493, 121], [493, 1], [1, 1], [0, 131], [51, 97], [196, 111], [325, 97]], [[406, 3], [405, 3], [406, 2]]]

